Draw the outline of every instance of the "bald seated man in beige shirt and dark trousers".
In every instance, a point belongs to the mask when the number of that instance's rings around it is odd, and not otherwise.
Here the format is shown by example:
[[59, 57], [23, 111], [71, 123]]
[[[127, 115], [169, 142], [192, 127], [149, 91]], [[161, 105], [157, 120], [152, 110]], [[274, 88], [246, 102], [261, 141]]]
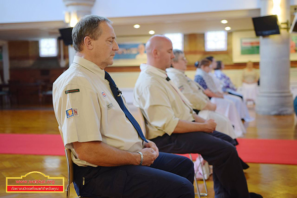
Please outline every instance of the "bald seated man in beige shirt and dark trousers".
[[148, 121], [148, 139], [164, 152], [200, 153], [213, 165], [215, 198], [262, 198], [248, 193], [247, 181], [234, 141], [216, 132], [213, 120], [193, 112], [191, 103], [167, 77], [174, 58], [172, 43], [155, 35], [146, 44], [147, 64], [134, 89], [134, 104]]

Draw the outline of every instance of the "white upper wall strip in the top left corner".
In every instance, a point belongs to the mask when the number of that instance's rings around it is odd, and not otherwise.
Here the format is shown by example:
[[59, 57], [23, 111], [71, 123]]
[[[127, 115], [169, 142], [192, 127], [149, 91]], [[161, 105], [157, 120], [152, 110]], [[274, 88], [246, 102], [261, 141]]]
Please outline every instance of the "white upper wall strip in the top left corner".
[[0, 23], [63, 21], [63, 0], [0, 0]]

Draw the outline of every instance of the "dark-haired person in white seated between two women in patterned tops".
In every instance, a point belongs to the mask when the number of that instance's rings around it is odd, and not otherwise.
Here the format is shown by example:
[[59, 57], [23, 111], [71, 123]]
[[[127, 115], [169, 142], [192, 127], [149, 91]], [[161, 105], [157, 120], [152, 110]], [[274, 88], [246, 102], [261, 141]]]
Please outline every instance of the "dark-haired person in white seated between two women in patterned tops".
[[[210, 67], [209, 67], [210, 70], [209, 70], [208, 74], [213, 79], [213, 82], [214, 82], [218, 92], [224, 93], [223, 90], [222, 90], [221, 81], [219, 79], [217, 79], [215, 77], [215, 75], [211, 72], [212, 69], [215, 69], [217, 67], [217, 62], [216, 62], [215, 58], [213, 56], [208, 56], [208, 57], [206, 57], [206, 59], [208, 59], [211, 62]], [[247, 110], [247, 105], [246, 105], [245, 101], [243, 101], [242, 98], [240, 98], [239, 96], [230, 95], [228, 93], [224, 94], [224, 98], [225, 99], [230, 99], [230, 100], [232, 100], [234, 102], [234, 104], [236, 106], [236, 109], [238, 111], [238, 114], [240, 115], [241, 119], [244, 119], [246, 122], [250, 122], [250, 121], [254, 120], [253, 118], [251, 118], [249, 116], [249, 113], [248, 113], [248, 110]]]

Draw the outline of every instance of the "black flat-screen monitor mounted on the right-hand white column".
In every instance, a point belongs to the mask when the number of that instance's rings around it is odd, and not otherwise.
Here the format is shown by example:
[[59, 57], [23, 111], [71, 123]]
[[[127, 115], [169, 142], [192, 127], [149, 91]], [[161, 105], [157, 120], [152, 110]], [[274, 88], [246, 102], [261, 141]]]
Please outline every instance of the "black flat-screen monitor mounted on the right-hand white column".
[[280, 34], [277, 15], [261, 16], [252, 18], [256, 36], [268, 36]]

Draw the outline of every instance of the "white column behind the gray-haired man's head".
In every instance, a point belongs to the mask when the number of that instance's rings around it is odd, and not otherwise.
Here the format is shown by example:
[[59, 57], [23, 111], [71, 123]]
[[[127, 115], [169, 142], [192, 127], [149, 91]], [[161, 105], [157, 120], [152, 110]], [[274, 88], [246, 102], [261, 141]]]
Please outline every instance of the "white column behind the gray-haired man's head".
[[[78, 22], [83, 16], [91, 14], [92, 7], [96, 0], [63, 0], [64, 4], [67, 7], [66, 13], [68, 13], [69, 21], [72, 27], [75, 25], [75, 22]], [[69, 54], [69, 66], [72, 64], [75, 49], [73, 46], [68, 46], [68, 54]]]

